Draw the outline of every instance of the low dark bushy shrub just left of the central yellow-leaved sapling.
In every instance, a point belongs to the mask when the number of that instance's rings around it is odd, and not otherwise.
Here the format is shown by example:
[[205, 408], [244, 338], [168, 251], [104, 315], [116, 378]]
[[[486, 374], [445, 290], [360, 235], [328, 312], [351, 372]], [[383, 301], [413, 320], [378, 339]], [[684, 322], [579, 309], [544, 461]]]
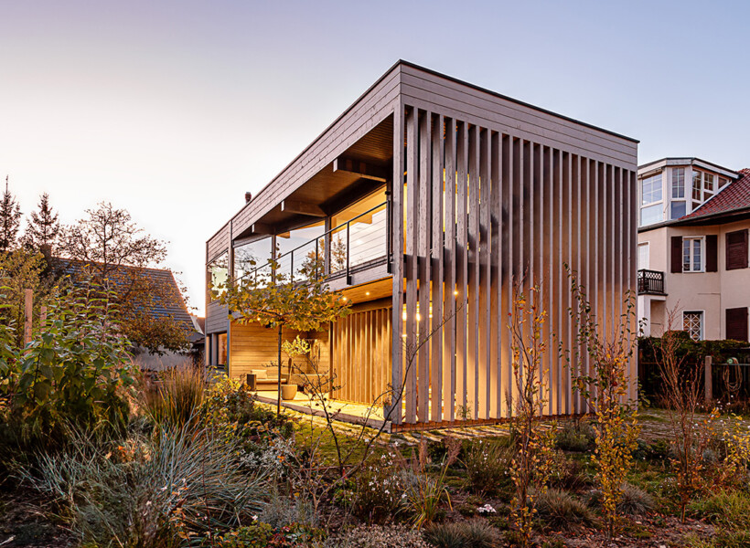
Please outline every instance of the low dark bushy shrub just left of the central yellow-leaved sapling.
[[508, 467], [511, 458], [512, 448], [482, 439], [472, 441], [463, 459], [471, 490], [491, 495], [501, 485], [509, 484]]

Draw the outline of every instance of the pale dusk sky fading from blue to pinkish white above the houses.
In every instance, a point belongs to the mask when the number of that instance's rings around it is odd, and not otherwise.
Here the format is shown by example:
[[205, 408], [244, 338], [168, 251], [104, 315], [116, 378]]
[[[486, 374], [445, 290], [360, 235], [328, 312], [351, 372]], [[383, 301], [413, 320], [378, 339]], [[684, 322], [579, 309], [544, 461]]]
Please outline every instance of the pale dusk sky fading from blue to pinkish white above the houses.
[[203, 313], [205, 242], [399, 58], [640, 140], [639, 163], [750, 167], [748, 2], [0, 1], [0, 175], [26, 216], [102, 200], [169, 241]]

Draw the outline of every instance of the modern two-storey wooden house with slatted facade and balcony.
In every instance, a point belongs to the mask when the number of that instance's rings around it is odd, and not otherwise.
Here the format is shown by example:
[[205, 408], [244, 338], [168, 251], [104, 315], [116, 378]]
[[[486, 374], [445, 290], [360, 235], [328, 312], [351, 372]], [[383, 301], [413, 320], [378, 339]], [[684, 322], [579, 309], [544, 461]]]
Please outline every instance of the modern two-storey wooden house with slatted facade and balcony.
[[[514, 280], [541, 284], [552, 348], [574, 337], [564, 264], [605, 328], [636, 289], [637, 151], [399, 61], [210, 237], [209, 280], [237, 279], [274, 248], [289, 272], [323, 253], [331, 289], [353, 303], [308, 334], [340, 385], [332, 397], [370, 403], [405, 384], [396, 425], [506, 417]], [[238, 376], [274, 359], [274, 332], [233, 323], [217, 302], [207, 316], [209, 364]], [[404, 345], [433, 330], [408, 368]], [[556, 350], [545, 369], [546, 412], [582, 411]]]

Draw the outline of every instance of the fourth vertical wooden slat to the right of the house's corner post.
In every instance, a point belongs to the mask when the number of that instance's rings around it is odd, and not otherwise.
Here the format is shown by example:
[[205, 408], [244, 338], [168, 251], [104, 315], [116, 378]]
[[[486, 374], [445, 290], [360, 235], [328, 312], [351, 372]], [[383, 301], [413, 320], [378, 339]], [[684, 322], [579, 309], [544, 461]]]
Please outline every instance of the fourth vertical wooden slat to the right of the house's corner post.
[[445, 121], [445, 315], [449, 320], [445, 324], [445, 352], [448, 356], [443, 367], [443, 408], [444, 420], [455, 420], [456, 401], [456, 345], [455, 345], [455, 120]]

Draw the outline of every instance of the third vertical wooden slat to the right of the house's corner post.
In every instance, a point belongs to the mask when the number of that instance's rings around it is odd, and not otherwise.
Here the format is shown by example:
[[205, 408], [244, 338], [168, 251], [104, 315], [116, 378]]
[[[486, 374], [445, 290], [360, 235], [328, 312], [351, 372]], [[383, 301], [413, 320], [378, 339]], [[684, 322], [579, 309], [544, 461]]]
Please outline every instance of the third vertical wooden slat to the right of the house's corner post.
[[[444, 235], [443, 235], [443, 207], [444, 207], [444, 195], [445, 195], [445, 184], [444, 184], [444, 173], [443, 163], [445, 154], [445, 142], [443, 140], [444, 132], [444, 119], [443, 115], [436, 116], [433, 123], [433, 176], [432, 176], [432, 193], [433, 193], [433, 229], [432, 229], [432, 246], [430, 252], [430, 258], [432, 262], [432, 284], [430, 291], [430, 300], [432, 302], [432, 331], [433, 339], [432, 355], [431, 355], [431, 374], [430, 374], [430, 387], [431, 387], [431, 413], [430, 419], [437, 422], [443, 415], [443, 381], [445, 378], [445, 364], [444, 364], [444, 353], [443, 346], [445, 344], [445, 329], [440, 327], [443, 321], [443, 301], [444, 301], [444, 286], [443, 286], [443, 268], [444, 268]], [[445, 363], [450, 364], [448, 360]]]

